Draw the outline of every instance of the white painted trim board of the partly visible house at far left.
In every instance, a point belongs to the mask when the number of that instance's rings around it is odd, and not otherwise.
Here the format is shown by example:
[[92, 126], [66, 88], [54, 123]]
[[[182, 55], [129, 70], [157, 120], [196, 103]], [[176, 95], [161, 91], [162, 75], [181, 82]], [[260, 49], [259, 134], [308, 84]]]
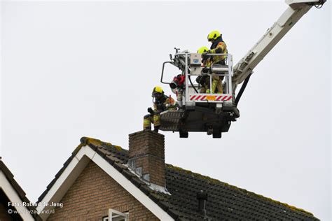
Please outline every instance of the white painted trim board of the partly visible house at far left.
[[34, 217], [30, 214], [29, 208], [23, 206], [23, 201], [2, 171], [0, 171], [0, 189], [4, 190], [9, 201], [15, 204], [14, 207], [16, 211], [20, 213], [23, 220], [34, 220]]

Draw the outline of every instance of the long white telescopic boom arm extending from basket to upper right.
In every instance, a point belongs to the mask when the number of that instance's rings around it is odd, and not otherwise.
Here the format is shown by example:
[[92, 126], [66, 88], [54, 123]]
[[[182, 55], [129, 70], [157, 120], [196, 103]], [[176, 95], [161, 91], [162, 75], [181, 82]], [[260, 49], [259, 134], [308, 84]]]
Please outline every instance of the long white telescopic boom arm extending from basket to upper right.
[[234, 66], [233, 92], [237, 85], [248, 78], [253, 69], [261, 62], [265, 55], [284, 37], [300, 18], [312, 6], [322, 6], [326, 0], [286, 0], [289, 5], [277, 22], [266, 31], [263, 37], [254, 45], [247, 54]]

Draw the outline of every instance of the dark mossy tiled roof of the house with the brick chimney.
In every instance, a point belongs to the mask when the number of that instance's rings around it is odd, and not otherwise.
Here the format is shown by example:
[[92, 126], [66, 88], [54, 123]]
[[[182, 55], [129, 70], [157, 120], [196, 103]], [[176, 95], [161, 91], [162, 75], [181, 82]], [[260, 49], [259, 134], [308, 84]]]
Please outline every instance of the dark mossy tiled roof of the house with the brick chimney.
[[55, 179], [41, 194], [47, 194], [71, 159], [84, 145], [89, 145], [109, 164], [155, 201], [174, 220], [206, 220], [198, 212], [196, 194], [203, 190], [208, 194], [207, 217], [209, 220], [318, 220], [312, 213], [289, 206], [253, 192], [237, 188], [219, 180], [202, 176], [170, 164], [165, 164], [166, 187], [170, 194], [151, 190], [146, 183], [127, 169], [128, 151], [119, 146], [93, 138], [81, 138], [81, 144], [65, 162]]

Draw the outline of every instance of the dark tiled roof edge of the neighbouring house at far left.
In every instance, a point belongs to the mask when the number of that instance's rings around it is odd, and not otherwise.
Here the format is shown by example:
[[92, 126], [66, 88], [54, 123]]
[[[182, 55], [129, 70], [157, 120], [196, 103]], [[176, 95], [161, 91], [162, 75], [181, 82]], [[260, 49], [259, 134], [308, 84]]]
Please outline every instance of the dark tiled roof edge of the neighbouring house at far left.
[[[11, 173], [11, 171], [8, 169], [8, 167], [6, 166], [6, 164], [4, 164], [4, 162], [1, 159], [1, 157], [0, 157], [0, 171], [2, 171], [4, 173], [4, 175], [6, 176], [8, 182], [11, 183], [11, 186], [13, 187], [13, 189], [15, 190], [15, 192], [18, 194], [18, 197], [20, 197], [20, 199], [22, 200], [22, 202], [27, 203], [26, 204], [27, 206], [25, 206], [25, 207], [29, 211], [36, 211], [36, 207], [29, 206], [29, 205], [31, 205], [31, 203], [30, 203], [29, 199], [27, 199], [24, 190], [22, 190], [22, 188], [20, 187], [20, 185], [18, 185], [18, 182], [16, 182], [16, 180], [14, 179], [13, 173]], [[36, 213], [32, 213], [32, 216], [34, 217], [35, 220], [41, 220], [41, 218], [39, 217], [39, 215], [37, 215]]]

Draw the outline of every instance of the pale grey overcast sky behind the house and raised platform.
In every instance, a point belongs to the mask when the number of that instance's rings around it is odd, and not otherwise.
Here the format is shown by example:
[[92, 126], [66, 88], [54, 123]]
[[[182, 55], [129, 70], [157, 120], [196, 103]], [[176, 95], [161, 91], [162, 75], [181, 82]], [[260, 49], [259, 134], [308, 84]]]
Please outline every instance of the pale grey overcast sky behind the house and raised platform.
[[[237, 62], [287, 7], [283, 1], [1, 6], [0, 155], [31, 201], [81, 136], [127, 148], [175, 46], [195, 52], [219, 29]], [[162, 132], [166, 162], [331, 220], [330, 28], [328, 1], [258, 64], [241, 117], [223, 138]]]

